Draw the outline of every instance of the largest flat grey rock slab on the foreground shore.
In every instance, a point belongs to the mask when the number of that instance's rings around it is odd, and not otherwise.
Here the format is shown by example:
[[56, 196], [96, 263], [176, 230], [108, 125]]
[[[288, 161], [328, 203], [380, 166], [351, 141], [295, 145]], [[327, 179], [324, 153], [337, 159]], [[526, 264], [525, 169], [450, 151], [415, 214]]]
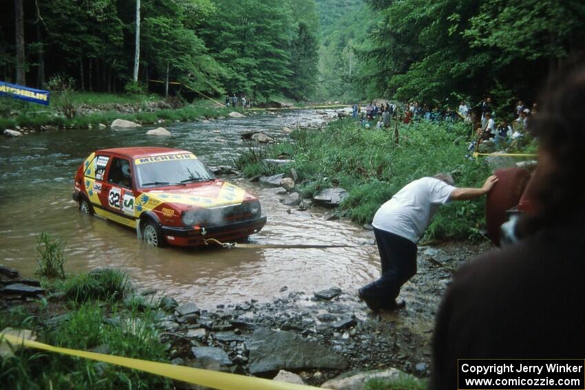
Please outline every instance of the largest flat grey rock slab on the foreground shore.
[[254, 332], [250, 343], [250, 373], [279, 369], [312, 368], [345, 369], [343, 356], [315, 342], [304, 340], [292, 332], [261, 329]]

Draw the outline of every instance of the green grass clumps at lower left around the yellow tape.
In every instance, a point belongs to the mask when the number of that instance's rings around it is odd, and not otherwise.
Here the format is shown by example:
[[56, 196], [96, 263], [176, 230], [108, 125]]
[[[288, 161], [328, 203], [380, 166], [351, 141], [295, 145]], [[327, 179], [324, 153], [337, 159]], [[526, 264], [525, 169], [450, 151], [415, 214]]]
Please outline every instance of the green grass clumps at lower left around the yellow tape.
[[[160, 343], [155, 326], [161, 314], [155, 305], [139, 305], [136, 298], [129, 305], [121, 301], [128, 292], [124, 272], [108, 269], [81, 274], [55, 282], [53, 288], [65, 293], [64, 301], [41, 299], [8, 310], [0, 316], [0, 329], [31, 329], [37, 340], [59, 347], [168, 362], [167, 345]], [[86, 299], [80, 299], [82, 295]], [[50, 320], [61, 312], [65, 314], [56, 317], [59, 321]], [[9, 384], [10, 389], [172, 388], [172, 382], [160, 376], [36, 349], [0, 357], [0, 383]]]

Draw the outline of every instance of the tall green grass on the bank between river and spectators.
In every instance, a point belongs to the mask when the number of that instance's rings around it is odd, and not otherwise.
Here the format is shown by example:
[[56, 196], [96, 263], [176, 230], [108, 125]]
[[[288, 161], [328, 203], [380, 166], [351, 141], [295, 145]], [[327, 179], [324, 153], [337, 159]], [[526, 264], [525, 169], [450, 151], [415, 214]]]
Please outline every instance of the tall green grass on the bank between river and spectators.
[[[349, 193], [341, 213], [364, 224], [394, 193], [424, 176], [447, 172], [454, 176], [456, 186], [481, 186], [489, 169], [479, 160], [465, 159], [469, 130], [469, 124], [462, 123], [398, 124], [397, 146], [391, 130], [363, 129], [346, 119], [323, 129], [292, 131], [289, 142], [248, 149], [236, 165], [248, 176], [288, 174], [294, 168], [304, 197], [341, 186]], [[286, 166], [262, 162], [279, 155], [294, 162]], [[443, 206], [425, 239], [479, 239], [484, 202], [480, 198]]]

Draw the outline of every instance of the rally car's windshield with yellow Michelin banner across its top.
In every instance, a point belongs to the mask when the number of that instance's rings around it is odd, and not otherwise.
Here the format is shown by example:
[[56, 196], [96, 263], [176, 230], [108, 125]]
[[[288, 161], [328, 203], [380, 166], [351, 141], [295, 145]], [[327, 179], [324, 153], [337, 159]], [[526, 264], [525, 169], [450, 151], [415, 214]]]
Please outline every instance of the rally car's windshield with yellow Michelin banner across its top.
[[[173, 156], [161, 156], [136, 160], [136, 179], [140, 187], [175, 186], [187, 183], [207, 182], [215, 176], [194, 155], [176, 159]], [[168, 158], [164, 158], [168, 157]]]

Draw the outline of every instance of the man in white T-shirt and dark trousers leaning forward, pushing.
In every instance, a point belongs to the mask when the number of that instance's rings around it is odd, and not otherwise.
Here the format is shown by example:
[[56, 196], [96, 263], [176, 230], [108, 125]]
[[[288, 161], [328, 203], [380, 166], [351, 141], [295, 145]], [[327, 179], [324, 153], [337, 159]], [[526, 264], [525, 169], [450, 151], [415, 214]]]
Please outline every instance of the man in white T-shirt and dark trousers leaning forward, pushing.
[[374, 215], [374, 235], [380, 252], [381, 277], [358, 290], [374, 312], [405, 305], [397, 302], [401, 286], [416, 274], [416, 243], [439, 206], [451, 200], [469, 200], [489, 193], [498, 182], [487, 178], [481, 188], [456, 188], [451, 176], [440, 173], [404, 186]]

